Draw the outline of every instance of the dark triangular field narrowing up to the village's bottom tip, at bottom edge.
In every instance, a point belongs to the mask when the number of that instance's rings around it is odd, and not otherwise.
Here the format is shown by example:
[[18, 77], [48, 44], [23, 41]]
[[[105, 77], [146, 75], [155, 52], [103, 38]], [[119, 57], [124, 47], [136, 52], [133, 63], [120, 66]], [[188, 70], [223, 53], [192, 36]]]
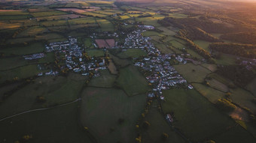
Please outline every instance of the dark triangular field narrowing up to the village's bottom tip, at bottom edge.
[[[148, 121], [151, 125], [147, 131], [142, 133], [142, 142], [179, 142], [182, 143], [184, 140], [175, 133], [169, 124], [167, 124], [165, 118], [157, 109], [157, 101], [154, 100], [152, 107], [148, 114], [145, 116], [145, 121]], [[169, 138], [166, 141], [161, 139], [163, 133], [167, 133]]]

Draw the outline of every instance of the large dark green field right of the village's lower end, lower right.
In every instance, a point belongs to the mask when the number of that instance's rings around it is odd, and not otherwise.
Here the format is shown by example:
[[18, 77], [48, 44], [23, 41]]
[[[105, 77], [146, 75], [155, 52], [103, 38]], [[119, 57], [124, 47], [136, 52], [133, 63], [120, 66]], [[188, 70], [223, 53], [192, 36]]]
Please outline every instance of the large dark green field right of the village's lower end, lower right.
[[[172, 89], [163, 91], [163, 95], [166, 98], [166, 102], [163, 103], [163, 112], [174, 112], [174, 126], [194, 142], [227, 133], [228, 128], [236, 126], [232, 119], [219, 112], [212, 103], [195, 90]], [[236, 138], [235, 135], [234, 133], [233, 138]], [[242, 136], [250, 135], [242, 132]], [[246, 140], [250, 141], [251, 138]]]

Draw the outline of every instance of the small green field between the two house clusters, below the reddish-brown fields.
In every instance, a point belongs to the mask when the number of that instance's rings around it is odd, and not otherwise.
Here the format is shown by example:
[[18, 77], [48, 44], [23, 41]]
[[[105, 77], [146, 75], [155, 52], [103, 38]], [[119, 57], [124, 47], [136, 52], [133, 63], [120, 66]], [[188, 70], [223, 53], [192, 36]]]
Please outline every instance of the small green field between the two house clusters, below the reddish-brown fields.
[[142, 49], [127, 49], [126, 51], [120, 52], [117, 56], [120, 58], [139, 58], [139, 56], [147, 55]]

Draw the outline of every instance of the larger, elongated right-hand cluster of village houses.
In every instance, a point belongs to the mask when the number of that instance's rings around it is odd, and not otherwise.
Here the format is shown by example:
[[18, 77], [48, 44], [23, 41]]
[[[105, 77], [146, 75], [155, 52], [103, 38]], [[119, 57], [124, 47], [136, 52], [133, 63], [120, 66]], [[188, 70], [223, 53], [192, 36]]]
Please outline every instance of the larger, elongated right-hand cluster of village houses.
[[[141, 48], [145, 49], [148, 53], [146, 58], [138, 60], [135, 65], [141, 67], [143, 70], [150, 73], [146, 77], [149, 84], [153, 86], [152, 93], [148, 94], [148, 97], [154, 97], [158, 95], [161, 100], [164, 100], [162, 90], [167, 90], [169, 88], [186, 85], [187, 88], [192, 89], [191, 85], [187, 85], [187, 81], [178, 74], [174, 67], [170, 64], [172, 59], [171, 54], [162, 54], [159, 49], [154, 47], [151, 43], [150, 37], [143, 37], [142, 32], [144, 30], [139, 29], [133, 31], [131, 34], [127, 35], [124, 47], [126, 48]], [[180, 56], [176, 57], [177, 60], [181, 62], [184, 61]]]

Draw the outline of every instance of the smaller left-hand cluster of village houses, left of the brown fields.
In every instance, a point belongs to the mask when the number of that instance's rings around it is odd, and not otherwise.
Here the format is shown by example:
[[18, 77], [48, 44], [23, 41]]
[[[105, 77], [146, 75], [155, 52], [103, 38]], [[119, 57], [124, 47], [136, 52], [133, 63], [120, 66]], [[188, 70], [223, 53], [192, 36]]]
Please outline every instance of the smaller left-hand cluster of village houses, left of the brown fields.
[[[78, 40], [74, 37], [69, 37], [67, 41], [50, 43], [45, 46], [45, 49], [46, 52], [59, 52], [65, 55], [65, 66], [60, 67], [60, 70], [68, 68], [75, 73], [81, 73], [82, 76], [89, 76], [92, 71], [96, 77], [100, 76], [99, 70], [106, 69], [104, 59], [100, 61], [99, 59], [85, 58], [84, 49], [78, 46]], [[58, 72], [50, 70], [44, 74], [56, 76]], [[43, 73], [38, 73], [38, 76], [43, 76]]]

